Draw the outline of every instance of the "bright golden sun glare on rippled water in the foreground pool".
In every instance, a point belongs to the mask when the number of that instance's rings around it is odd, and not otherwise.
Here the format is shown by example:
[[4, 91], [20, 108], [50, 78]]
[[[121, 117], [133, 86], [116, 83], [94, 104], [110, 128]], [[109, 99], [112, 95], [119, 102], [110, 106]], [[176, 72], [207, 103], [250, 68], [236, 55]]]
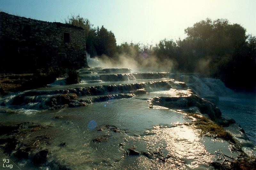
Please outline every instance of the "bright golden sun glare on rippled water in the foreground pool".
[[185, 125], [173, 128], [158, 127], [148, 133], [154, 134], [144, 137], [148, 151], [158, 152], [160, 156], [157, 158], [164, 161], [164, 167], [167, 169], [198, 168], [210, 163], [214, 158], [214, 155], [205, 149], [199, 134]]

